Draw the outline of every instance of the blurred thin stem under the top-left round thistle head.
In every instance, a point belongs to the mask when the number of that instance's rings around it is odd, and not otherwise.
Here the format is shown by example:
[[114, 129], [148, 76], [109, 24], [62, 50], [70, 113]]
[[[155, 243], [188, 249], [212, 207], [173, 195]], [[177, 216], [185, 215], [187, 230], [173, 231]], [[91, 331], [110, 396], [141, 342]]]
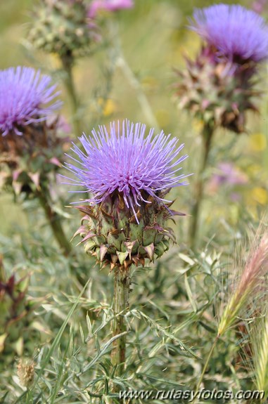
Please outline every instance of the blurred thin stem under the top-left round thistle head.
[[79, 100], [75, 91], [75, 83], [72, 74], [72, 67], [74, 65], [74, 58], [72, 53], [67, 53], [60, 58], [63, 70], [65, 71], [65, 88], [70, 99], [70, 107], [72, 112], [72, 122], [75, 134], [80, 136], [82, 134], [82, 126], [79, 118]]

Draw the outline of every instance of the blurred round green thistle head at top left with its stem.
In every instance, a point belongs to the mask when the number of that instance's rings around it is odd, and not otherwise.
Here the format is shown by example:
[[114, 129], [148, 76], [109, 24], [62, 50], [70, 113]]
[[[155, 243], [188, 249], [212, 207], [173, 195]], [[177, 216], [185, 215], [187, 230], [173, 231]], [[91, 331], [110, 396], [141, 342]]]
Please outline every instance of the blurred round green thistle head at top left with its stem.
[[35, 48], [60, 58], [77, 135], [81, 133], [81, 117], [72, 70], [75, 58], [88, 51], [96, 37], [96, 25], [89, 26], [87, 14], [84, 0], [42, 0], [35, 8], [28, 33]]

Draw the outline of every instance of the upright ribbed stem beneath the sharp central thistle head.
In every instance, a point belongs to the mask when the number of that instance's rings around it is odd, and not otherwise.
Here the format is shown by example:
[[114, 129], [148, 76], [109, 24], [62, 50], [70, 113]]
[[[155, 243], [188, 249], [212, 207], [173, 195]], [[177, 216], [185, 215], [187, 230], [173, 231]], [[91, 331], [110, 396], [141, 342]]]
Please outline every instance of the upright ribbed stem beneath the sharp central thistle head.
[[[115, 289], [114, 289], [114, 313], [115, 320], [113, 323], [113, 336], [115, 337], [127, 330], [127, 325], [124, 319], [124, 313], [129, 307], [129, 286], [130, 277], [129, 269], [125, 266], [120, 266], [115, 271]], [[117, 365], [118, 374], [122, 374], [125, 367], [126, 358], [126, 335], [115, 339], [113, 344], [111, 359], [113, 365]]]

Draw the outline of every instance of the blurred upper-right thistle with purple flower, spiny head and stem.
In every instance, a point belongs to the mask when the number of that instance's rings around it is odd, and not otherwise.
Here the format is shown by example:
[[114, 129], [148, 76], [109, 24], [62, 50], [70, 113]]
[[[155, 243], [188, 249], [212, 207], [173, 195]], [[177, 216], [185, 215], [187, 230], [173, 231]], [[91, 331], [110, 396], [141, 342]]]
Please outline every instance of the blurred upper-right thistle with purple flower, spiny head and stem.
[[178, 72], [177, 94], [179, 106], [203, 122], [203, 161], [189, 231], [195, 247], [212, 139], [218, 127], [242, 133], [246, 112], [257, 110], [257, 67], [268, 57], [268, 27], [260, 15], [243, 6], [217, 4], [196, 9], [190, 29], [204, 44], [196, 60], [186, 59], [186, 70]]

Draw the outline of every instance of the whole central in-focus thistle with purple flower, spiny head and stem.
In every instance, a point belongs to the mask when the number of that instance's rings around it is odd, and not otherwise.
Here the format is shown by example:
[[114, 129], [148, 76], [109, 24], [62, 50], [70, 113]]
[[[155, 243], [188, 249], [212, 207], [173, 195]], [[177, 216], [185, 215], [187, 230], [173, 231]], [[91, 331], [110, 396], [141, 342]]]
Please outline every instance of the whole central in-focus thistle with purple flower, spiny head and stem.
[[[82, 206], [84, 217], [75, 235], [81, 235], [85, 251], [115, 275], [113, 334], [125, 331], [124, 314], [129, 306], [130, 268], [144, 266], [169, 248], [174, 241], [168, 219], [179, 214], [165, 199], [170, 188], [186, 185], [179, 164], [184, 145], [163, 132], [146, 136], [146, 125], [125, 121], [99, 126], [91, 137], [83, 135], [73, 145], [75, 157], [65, 167], [75, 175], [65, 183], [89, 193]], [[74, 191], [76, 192], [76, 191]], [[76, 202], [75, 202], [76, 203]], [[81, 202], [77, 202], [81, 203]], [[125, 363], [125, 334], [115, 339], [114, 365]]]

